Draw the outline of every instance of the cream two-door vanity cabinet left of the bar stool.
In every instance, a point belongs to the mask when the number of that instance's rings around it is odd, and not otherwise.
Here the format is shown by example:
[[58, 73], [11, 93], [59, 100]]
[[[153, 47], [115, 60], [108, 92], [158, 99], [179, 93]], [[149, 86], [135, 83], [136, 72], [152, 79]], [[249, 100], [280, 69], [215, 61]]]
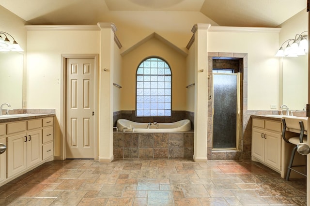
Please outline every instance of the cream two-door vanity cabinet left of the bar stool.
[[252, 160], [281, 172], [280, 121], [252, 118]]

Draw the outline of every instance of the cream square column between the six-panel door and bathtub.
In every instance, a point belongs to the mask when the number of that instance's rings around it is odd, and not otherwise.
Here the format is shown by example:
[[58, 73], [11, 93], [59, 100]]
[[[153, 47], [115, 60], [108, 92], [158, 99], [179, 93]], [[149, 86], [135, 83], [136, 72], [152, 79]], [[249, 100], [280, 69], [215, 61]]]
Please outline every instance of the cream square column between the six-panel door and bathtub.
[[100, 38], [99, 111], [98, 111], [98, 150], [99, 162], [113, 160], [113, 54], [114, 32], [112, 23], [98, 23]]

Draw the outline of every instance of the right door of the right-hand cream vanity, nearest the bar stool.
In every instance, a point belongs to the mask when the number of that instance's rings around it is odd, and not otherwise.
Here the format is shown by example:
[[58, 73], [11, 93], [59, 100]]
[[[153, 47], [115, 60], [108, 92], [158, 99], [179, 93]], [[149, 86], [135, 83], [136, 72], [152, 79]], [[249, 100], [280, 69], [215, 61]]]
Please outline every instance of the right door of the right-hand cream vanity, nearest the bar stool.
[[281, 170], [281, 134], [266, 132], [264, 162]]

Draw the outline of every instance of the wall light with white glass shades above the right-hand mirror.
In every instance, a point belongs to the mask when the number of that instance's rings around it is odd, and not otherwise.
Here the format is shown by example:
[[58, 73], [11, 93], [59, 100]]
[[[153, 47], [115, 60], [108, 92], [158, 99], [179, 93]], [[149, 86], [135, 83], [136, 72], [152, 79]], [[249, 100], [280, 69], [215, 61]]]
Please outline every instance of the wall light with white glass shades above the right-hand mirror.
[[[308, 35], [303, 34], [308, 31], [304, 31], [300, 34], [296, 34], [294, 39], [288, 39], [279, 48], [276, 57], [298, 57], [306, 55], [308, 53]], [[287, 43], [285, 49], [283, 45]]]

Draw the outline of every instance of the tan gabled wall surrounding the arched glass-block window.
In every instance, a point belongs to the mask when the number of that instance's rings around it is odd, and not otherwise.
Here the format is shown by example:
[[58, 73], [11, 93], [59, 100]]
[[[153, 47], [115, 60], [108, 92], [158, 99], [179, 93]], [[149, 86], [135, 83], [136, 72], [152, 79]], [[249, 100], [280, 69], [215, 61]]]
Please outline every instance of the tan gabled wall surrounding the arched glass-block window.
[[172, 110], [186, 110], [186, 57], [157, 38], [141, 44], [123, 57], [122, 110], [136, 108], [136, 72], [141, 61], [150, 56], [165, 59], [172, 72]]

